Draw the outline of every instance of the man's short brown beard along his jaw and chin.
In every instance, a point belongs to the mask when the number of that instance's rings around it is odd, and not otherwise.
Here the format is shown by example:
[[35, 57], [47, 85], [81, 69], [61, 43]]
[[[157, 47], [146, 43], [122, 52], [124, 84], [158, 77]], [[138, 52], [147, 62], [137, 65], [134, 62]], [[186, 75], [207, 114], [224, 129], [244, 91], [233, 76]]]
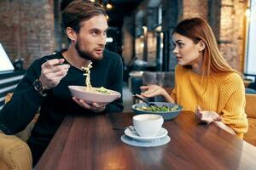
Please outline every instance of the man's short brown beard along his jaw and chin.
[[75, 44], [75, 48], [77, 49], [77, 52], [79, 54], [80, 57], [84, 58], [84, 59], [89, 59], [89, 60], [101, 60], [103, 58], [103, 54], [100, 56], [95, 56], [93, 54], [93, 50], [89, 51], [89, 50], [83, 50], [81, 48], [81, 43], [80, 40], [78, 39], [78, 42], [76, 42]]

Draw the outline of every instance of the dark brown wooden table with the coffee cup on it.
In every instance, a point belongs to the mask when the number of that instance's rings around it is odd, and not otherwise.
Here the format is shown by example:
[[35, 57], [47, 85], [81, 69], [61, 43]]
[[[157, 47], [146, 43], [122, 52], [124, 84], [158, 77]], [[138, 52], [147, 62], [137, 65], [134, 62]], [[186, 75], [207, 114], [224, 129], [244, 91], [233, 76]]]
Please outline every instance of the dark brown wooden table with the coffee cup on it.
[[67, 116], [36, 169], [255, 169], [256, 147], [181, 113], [165, 122], [171, 142], [136, 147], [120, 137], [132, 113]]

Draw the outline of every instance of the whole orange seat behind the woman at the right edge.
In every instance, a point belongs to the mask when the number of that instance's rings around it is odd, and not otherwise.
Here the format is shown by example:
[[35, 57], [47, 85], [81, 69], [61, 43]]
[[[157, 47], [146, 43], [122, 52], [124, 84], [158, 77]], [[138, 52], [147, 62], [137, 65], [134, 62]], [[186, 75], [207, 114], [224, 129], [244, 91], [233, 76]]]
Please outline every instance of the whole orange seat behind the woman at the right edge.
[[256, 146], [256, 94], [246, 94], [246, 113], [248, 119], [248, 131], [244, 134], [244, 140]]

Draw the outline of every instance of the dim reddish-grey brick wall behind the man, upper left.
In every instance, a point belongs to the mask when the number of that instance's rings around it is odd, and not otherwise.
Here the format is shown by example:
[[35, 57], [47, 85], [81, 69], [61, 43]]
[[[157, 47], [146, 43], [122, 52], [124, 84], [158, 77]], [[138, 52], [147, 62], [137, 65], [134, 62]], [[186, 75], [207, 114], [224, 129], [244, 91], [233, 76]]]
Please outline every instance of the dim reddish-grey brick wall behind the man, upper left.
[[0, 42], [9, 58], [24, 58], [27, 68], [32, 61], [55, 49], [54, 9], [52, 0], [0, 1]]

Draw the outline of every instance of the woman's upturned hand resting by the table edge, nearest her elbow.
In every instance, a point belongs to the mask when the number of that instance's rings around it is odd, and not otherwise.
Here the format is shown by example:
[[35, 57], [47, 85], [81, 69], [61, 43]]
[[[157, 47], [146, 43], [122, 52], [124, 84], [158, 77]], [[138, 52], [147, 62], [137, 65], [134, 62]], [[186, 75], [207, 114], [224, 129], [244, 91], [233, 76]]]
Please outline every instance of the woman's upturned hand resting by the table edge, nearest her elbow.
[[199, 122], [206, 122], [210, 124], [214, 121], [221, 121], [222, 117], [218, 115], [215, 111], [201, 111], [201, 107], [197, 106], [195, 111], [195, 117]]

